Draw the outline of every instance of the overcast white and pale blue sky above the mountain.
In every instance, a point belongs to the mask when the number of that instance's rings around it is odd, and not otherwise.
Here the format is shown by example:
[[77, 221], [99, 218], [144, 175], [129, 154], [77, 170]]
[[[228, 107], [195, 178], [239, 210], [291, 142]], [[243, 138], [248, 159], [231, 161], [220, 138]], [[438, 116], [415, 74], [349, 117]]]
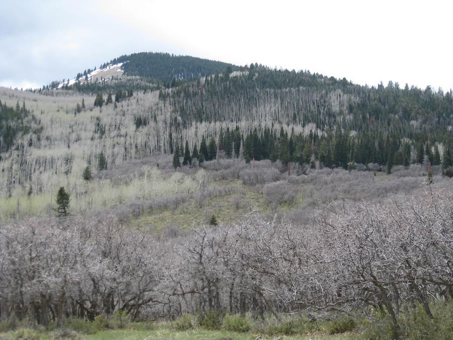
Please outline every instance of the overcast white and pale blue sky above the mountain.
[[0, 85], [169, 52], [354, 83], [453, 88], [451, 1], [0, 1]]

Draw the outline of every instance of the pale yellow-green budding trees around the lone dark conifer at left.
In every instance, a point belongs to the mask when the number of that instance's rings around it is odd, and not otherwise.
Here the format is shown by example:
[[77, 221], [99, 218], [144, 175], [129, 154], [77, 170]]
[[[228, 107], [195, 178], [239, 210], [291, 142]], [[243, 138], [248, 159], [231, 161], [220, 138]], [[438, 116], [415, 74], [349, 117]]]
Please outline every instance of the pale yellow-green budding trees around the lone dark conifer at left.
[[6, 223], [14, 218], [53, 216], [56, 193], [60, 186], [64, 186], [69, 192], [69, 211], [72, 215], [92, 209], [113, 208], [130, 201], [162, 198], [197, 190], [191, 176], [174, 173], [164, 177], [162, 171], [156, 168], [148, 170], [146, 179], [142, 175], [124, 181], [85, 181], [82, 175], [70, 175], [57, 178], [55, 184], [45, 192], [28, 195], [29, 186], [25, 186], [16, 188], [11, 197], [0, 197], [0, 221]]

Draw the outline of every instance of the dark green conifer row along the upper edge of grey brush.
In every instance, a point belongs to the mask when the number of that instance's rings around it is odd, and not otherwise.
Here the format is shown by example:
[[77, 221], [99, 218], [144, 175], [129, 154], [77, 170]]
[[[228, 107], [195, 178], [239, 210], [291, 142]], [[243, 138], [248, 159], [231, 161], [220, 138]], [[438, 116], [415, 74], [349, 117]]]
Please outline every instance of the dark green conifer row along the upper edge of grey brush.
[[327, 133], [319, 135], [316, 131], [310, 131], [306, 136], [303, 133], [292, 133], [282, 128], [277, 133], [270, 128], [264, 128], [259, 133], [257, 128], [247, 134], [241, 134], [239, 127], [230, 130], [220, 129], [217, 141], [213, 138], [206, 139], [203, 136], [199, 147], [195, 144], [189, 150], [188, 141], [185, 145], [176, 143], [173, 152], [173, 166], [179, 167], [180, 157], [183, 157], [183, 165], [192, 165], [192, 161], [199, 163], [213, 160], [217, 152], [221, 152], [225, 158], [243, 158], [247, 163], [252, 160], [260, 161], [269, 159], [272, 162], [280, 161], [283, 166], [288, 163], [300, 165], [309, 164], [313, 168], [320, 163], [321, 166], [344, 169], [355, 169], [358, 164], [369, 163], [387, 167], [390, 173], [393, 166], [419, 163], [429, 165], [442, 165], [444, 174], [451, 177], [451, 147], [450, 140], [443, 144], [443, 152], [440, 153], [438, 144], [431, 145], [429, 139], [426, 142], [419, 141], [414, 145], [409, 140], [400, 140], [397, 135], [378, 135], [373, 140], [367, 134], [351, 134], [350, 131], [342, 131], [337, 127]]

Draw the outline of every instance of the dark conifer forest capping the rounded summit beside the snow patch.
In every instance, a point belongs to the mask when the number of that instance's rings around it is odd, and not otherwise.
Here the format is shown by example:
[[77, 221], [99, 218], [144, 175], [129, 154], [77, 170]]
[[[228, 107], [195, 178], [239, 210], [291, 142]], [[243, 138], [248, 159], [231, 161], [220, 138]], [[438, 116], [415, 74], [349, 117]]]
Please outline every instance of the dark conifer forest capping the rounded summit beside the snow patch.
[[127, 75], [152, 78], [165, 83], [212, 75], [225, 71], [227, 67], [233, 71], [239, 69], [226, 62], [155, 52], [122, 55], [110, 61], [112, 64], [119, 62], [124, 62], [122, 69]]

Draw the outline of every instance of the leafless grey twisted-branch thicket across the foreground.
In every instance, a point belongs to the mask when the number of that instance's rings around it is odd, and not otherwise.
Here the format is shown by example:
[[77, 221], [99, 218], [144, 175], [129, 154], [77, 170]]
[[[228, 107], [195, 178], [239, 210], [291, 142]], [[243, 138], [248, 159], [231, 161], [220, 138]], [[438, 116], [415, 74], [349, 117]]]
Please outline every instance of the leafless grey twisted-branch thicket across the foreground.
[[[18, 222], [0, 229], [0, 317], [38, 323], [122, 310], [296, 313], [402, 308], [453, 298], [453, 194], [329, 206], [311, 229], [247, 218], [158, 240], [112, 218]], [[396, 336], [395, 336], [396, 338]]]

